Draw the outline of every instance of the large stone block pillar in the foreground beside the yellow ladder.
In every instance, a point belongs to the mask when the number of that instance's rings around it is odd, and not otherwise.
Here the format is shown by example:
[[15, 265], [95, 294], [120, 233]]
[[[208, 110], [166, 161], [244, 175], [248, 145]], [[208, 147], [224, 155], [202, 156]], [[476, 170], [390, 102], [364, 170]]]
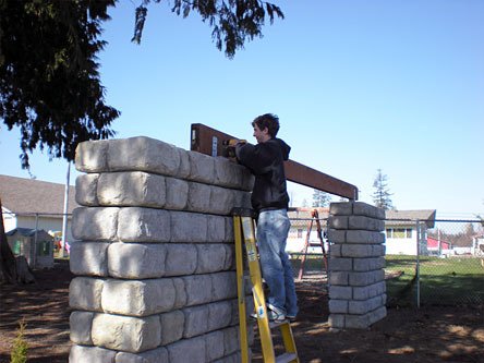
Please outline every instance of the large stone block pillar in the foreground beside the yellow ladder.
[[70, 362], [238, 362], [249, 171], [148, 137], [82, 143], [75, 164]]

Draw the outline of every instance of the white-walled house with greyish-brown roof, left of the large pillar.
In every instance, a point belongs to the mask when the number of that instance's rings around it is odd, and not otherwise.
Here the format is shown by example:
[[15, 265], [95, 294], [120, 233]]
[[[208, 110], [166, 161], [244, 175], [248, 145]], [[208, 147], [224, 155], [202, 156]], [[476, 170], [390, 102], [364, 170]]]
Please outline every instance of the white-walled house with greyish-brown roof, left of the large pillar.
[[[62, 232], [65, 185], [35, 179], [0, 176], [0, 198], [5, 232], [16, 228]], [[66, 241], [71, 234], [71, 214], [78, 207], [75, 187], [69, 189]]]

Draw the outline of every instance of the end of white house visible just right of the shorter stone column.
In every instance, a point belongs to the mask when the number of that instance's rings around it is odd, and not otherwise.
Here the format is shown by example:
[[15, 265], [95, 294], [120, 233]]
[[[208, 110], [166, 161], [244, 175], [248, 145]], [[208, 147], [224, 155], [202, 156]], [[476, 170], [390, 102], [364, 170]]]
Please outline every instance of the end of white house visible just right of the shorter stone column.
[[427, 255], [427, 230], [434, 228], [435, 209], [386, 210], [387, 255]]

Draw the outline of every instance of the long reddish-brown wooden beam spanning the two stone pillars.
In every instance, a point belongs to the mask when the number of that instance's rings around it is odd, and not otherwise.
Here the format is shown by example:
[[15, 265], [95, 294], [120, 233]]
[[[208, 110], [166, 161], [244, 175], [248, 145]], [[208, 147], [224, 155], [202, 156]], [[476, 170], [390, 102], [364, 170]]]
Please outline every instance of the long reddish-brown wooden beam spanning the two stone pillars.
[[[221, 131], [208, 128], [202, 123], [193, 123], [191, 130], [191, 150], [205, 155], [222, 156], [223, 141], [238, 138]], [[285, 162], [286, 178], [298, 184], [316, 189], [358, 201], [358, 187], [342, 180], [317, 171], [293, 160]]]

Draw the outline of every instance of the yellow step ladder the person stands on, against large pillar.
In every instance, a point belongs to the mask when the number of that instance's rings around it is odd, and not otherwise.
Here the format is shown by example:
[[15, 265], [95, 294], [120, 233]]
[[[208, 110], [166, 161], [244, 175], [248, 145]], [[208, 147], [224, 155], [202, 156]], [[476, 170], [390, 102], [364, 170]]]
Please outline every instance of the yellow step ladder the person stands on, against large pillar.
[[[245, 245], [245, 256], [249, 266], [250, 279], [252, 282], [252, 293], [254, 298], [255, 312], [257, 314], [257, 325], [261, 337], [261, 346], [264, 363], [299, 363], [295, 349], [294, 337], [292, 335], [289, 320], [282, 323], [269, 322], [267, 315], [266, 299], [264, 295], [261, 266], [258, 263], [257, 245], [255, 240], [254, 214], [249, 208], [233, 208], [233, 230], [235, 234], [235, 264], [237, 264], [237, 288], [239, 304], [240, 346], [242, 363], [249, 363], [249, 340], [247, 340], [247, 312], [245, 306], [245, 277], [243, 246]], [[271, 328], [278, 327], [282, 336], [286, 352], [276, 356], [274, 350]]]

